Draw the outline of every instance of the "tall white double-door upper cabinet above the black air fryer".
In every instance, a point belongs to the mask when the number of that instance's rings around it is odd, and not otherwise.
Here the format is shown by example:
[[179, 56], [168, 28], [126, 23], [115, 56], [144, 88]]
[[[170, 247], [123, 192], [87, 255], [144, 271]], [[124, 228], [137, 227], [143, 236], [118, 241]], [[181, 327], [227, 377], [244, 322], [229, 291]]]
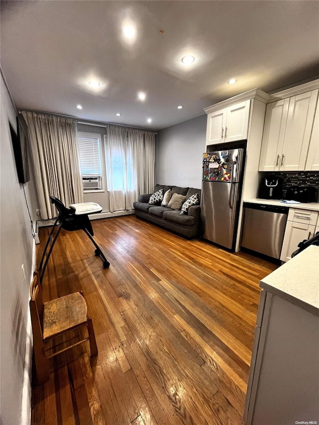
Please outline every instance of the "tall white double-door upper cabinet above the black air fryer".
[[306, 169], [318, 91], [267, 105], [259, 171]]

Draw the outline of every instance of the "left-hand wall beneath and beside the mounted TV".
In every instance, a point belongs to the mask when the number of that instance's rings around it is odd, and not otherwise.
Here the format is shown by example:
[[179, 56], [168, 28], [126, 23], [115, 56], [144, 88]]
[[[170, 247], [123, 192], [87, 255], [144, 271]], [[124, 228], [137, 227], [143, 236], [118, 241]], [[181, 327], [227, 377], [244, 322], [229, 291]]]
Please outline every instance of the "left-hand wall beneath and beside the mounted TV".
[[[33, 273], [34, 243], [24, 199], [18, 182], [9, 121], [16, 130], [16, 114], [1, 77], [0, 130], [0, 288], [1, 288], [1, 425], [20, 423], [23, 409], [30, 409], [30, 357], [26, 350], [29, 319], [29, 284]], [[31, 211], [36, 196], [32, 183], [25, 185]], [[21, 270], [24, 265], [25, 280]], [[29, 342], [29, 341], [28, 341]], [[25, 354], [27, 354], [25, 356]], [[23, 375], [26, 371], [26, 380]]]

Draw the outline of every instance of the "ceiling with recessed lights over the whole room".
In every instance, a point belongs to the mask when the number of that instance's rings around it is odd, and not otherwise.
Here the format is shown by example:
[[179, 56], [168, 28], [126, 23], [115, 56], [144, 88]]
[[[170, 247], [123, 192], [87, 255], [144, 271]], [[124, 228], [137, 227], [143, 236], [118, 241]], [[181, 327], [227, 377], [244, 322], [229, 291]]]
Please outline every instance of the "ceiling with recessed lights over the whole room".
[[19, 109], [160, 130], [315, 77], [318, 63], [319, 1], [1, 1], [1, 67]]

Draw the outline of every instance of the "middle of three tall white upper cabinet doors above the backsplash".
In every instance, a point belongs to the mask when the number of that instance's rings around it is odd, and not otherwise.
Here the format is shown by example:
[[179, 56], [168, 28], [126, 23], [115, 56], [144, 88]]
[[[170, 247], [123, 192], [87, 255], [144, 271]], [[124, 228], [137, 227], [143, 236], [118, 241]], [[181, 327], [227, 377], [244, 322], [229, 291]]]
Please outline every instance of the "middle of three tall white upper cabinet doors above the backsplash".
[[313, 129], [318, 90], [290, 98], [281, 171], [298, 171], [306, 167], [306, 158]]

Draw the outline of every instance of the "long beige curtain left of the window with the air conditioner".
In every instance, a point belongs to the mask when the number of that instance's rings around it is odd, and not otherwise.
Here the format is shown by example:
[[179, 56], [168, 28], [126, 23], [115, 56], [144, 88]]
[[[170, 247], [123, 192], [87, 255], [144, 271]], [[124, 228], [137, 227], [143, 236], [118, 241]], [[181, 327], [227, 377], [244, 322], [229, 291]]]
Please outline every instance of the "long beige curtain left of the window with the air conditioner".
[[35, 184], [42, 219], [56, 217], [49, 196], [68, 207], [84, 202], [77, 141], [77, 122], [23, 112], [28, 126]]

